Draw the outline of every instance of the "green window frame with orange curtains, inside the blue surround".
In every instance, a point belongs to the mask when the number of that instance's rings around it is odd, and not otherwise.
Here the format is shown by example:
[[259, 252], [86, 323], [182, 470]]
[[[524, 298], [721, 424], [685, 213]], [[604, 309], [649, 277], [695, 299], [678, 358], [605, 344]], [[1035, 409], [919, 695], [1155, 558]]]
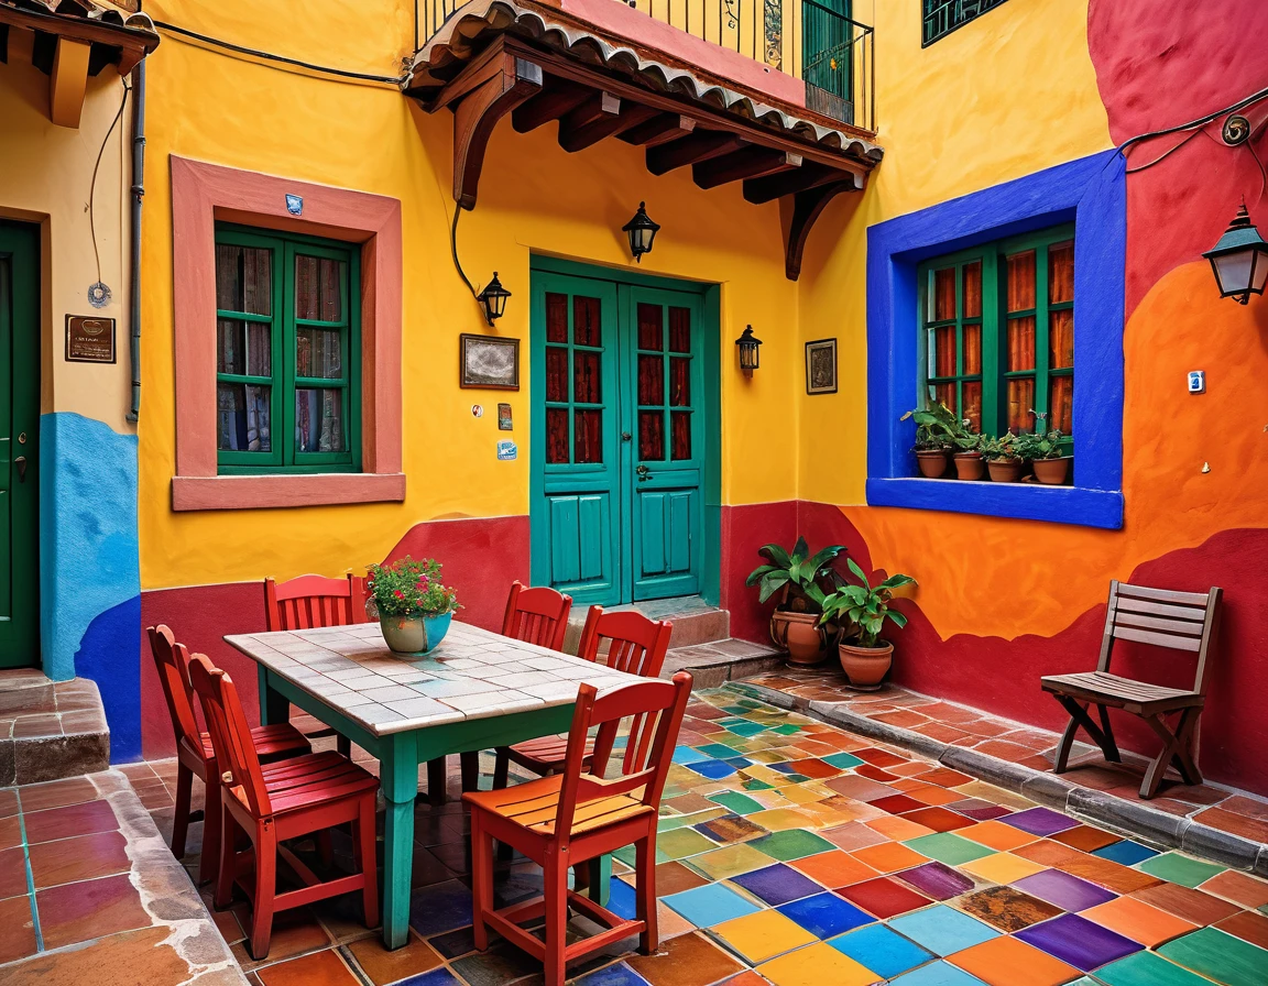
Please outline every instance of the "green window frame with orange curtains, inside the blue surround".
[[[980, 394], [981, 411], [978, 427], [984, 435], [1003, 435], [1009, 430], [1009, 381], [1033, 379], [1032, 407], [1033, 417], [1030, 430], [1049, 431], [1060, 422], [1050, 422], [1050, 398], [1054, 381], [1069, 379], [1069, 406], [1073, 409], [1074, 359], [1073, 359], [1073, 288], [1069, 298], [1052, 300], [1049, 272], [1050, 251], [1069, 250], [1073, 257], [1074, 224], [1063, 224], [1036, 233], [997, 240], [970, 250], [948, 253], [927, 260], [917, 269], [919, 285], [919, 318], [922, 345], [919, 346], [919, 380], [922, 400], [945, 400], [961, 417], [973, 417], [969, 408], [975, 395]], [[1027, 308], [1008, 311], [1008, 257], [1035, 251], [1035, 304]], [[966, 274], [971, 279], [974, 269], [980, 267], [980, 304], [969, 302]], [[938, 318], [936, 311], [936, 290], [940, 275], [954, 272], [955, 312], [943, 312]], [[1073, 284], [1073, 260], [1070, 265], [1070, 284]], [[966, 304], [966, 302], [969, 302]], [[969, 311], [966, 311], [966, 308]], [[1069, 318], [1058, 313], [1070, 312]], [[1035, 321], [1033, 366], [1008, 369], [1008, 322], [1012, 319]], [[1068, 360], [1055, 360], [1052, 356], [1054, 322], [1069, 322], [1070, 347]], [[971, 354], [974, 333], [980, 333], [980, 359], [967, 359]], [[947, 373], [937, 371], [938, 337], [955, 342], [955, 366]], [[966, 338], [970, 346], [965, 345]], [[967, 404], [966, 404], [967, 399]], [[1042, 417], [1040, 417], [1042, 416]], [[1042, 427], [1040, 422], [1044, 422]], [[1074, 449], [1073, 427], [1061, 428], [1061, 445], [1066, 454]]]

